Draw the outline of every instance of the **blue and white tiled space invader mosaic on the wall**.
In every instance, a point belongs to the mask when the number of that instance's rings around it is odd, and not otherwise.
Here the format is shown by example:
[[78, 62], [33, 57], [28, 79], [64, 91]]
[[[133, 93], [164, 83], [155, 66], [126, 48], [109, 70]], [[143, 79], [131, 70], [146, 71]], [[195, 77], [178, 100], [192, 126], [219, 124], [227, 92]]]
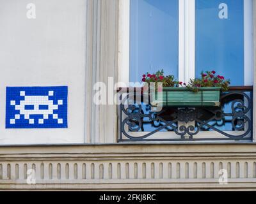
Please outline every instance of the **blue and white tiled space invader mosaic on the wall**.
[[6, 87], [6, 128], [67, 128], [68, 87]]

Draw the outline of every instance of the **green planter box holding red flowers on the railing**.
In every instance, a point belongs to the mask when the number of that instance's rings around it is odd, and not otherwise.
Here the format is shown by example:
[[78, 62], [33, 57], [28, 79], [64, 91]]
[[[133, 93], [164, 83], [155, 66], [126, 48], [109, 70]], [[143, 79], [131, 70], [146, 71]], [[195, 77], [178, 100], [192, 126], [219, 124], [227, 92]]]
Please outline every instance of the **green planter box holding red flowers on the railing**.
[[153, 100], [152, 105], [163, 106], [220, 106], [221, 87], [201, 87], [198, 92], [189, 91], [186, 87], [163, 87], [161, 97]]

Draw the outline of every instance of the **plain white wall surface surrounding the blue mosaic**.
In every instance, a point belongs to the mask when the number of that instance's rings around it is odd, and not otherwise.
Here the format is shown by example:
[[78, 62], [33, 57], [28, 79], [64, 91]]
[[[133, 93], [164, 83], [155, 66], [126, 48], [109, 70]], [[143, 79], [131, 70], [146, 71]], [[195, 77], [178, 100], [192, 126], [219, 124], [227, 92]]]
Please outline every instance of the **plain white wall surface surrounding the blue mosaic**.
[[[0, 0], [0, 145], [83, 142], [85, 11], [86, 0]], [[5, 129], [6, 86], [55, 85], [68, 85], [68, 129]]]

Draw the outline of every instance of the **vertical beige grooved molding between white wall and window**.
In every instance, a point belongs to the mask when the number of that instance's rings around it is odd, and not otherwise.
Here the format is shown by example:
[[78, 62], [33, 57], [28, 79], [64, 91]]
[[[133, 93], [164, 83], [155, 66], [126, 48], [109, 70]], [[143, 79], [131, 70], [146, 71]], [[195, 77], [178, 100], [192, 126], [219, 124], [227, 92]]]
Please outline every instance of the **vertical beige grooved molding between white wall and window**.
[[95, 105], [93, 85], [117, 80], [118, 0], [87, 0], [84, 143], [116, 142], [116, 106]]

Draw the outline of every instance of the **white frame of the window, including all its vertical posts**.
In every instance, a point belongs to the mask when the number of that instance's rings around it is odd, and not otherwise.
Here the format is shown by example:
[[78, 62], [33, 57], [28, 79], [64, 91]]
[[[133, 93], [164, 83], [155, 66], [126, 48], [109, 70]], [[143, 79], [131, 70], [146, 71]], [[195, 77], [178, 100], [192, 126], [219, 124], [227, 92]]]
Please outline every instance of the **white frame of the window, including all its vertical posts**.
[[[253, 0], [244, 0], [244, 85], [253, 84]], [[118, 82], [129, 87], [130, 0], [120, 0], [118, 19]], [[179, 0], [179, 80], [195, 78], [195, 0]], [[225, 131], [227, 133], [233, 133]], [[240, 134], [241, 131], [237, 132]], [[132, 133], [134, 136], [145, 135]], [[131, 134], [131, 135], [132, 135]], [[235, 133], [236, 134], [236, 133]], [[234, 134], [234, 135], [235, 135]], [[170, 138], [170, 133], [157, 133], [157, 138]], [[205, 133], [198, 133], [197, 138]], [[207, 137], [223, 138], [220, 133], [207, 131]], [[154, 136], [150, 136], [154, 138]], [[173, 138], [175, 135], [173, 133]], [[177, 136], [176, 136], [177, 138]]]

